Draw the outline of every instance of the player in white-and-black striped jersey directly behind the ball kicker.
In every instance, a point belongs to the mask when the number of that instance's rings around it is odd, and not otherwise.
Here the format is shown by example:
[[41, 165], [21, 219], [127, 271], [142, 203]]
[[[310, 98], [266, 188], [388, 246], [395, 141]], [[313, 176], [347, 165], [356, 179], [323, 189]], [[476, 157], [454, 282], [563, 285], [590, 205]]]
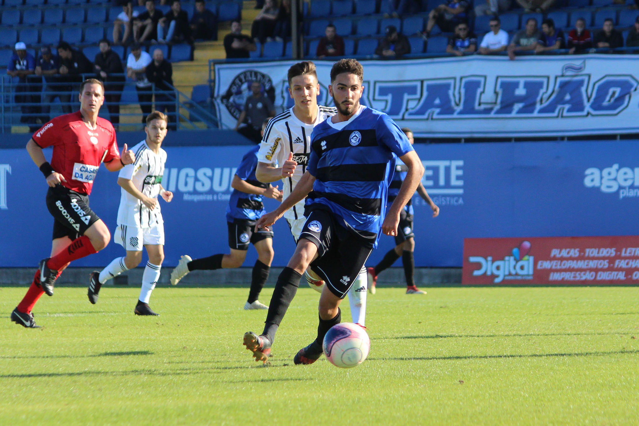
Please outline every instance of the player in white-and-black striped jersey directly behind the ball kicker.
[[[283, 199], [286, 199], [302, 174], [306, 171], [311, 153], [311, 133], [313, 128], [327, 118], [337, 114], [335, 107], [318, 105], [319, 83], [314, 63], [296, 63], [288, 70], [289, 93], [295, 105], [271, 119], [264, 132], [258, 152], [256, 177], [262, 182], [282, 180]], [[297, 241], [306, 222], [304, 200], [284, 213], [293, 238]], [[321, 278], [307, 271], [309, 285], [321, 292]], [[309, 276], [310, 275], [310, 276]], [[363, 269], [357, 278], [348, 300], [353, 323], [364, 326], [366, 320], [367, 275]]]

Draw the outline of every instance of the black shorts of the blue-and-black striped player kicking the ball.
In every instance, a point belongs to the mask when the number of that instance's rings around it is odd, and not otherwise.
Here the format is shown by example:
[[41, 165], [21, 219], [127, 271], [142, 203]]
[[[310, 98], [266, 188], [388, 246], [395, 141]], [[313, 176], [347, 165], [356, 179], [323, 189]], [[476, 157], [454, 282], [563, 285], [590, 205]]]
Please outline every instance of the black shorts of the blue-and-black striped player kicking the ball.
[[318, 258], [311, 262], [335, 296], [343, 299], [366, 263], [373, 247], [335, 221], [327, 210], [313, 210], [304, 224], [300, 240], [318, 247]]

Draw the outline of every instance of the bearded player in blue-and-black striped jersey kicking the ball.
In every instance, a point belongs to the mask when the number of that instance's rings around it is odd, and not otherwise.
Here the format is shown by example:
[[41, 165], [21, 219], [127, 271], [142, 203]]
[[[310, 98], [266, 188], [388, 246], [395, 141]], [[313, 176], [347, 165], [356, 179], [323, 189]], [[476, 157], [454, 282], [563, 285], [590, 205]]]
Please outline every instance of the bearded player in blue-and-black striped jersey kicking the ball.
[[[244, 334], [243, 344], [256, 361], [268, 360], [275, 332], [309, 264], [326, 282], [319, 296], [316, 339], [300, 349], [295, 364], [311, 364], [322, 354], [327, 331], [339, 324], [339, 304], [377, 245], [380, 231], [397, 234], [401, 210], [419, 184], [424, 166], [406, 135], [387, 114], [360, 105], [364, 69], [355, 59], [341, 59], [330, 72], [328, 93], [337, 114], [311, 135], [309, 165], [282, 204], [256, 226], [270, 229], [284, 212], [307, 197], [307, 218], [295, 254], [277, 278], [261, 335]], [[406, 178], [387, 211], [394, 155], [406, 164]]]

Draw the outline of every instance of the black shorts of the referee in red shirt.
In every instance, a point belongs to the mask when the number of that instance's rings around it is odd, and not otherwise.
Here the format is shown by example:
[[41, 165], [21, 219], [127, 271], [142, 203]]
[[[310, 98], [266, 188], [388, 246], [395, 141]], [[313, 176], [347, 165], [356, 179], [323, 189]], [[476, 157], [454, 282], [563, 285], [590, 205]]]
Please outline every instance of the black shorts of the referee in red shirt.
[[100, 217], [89, 208], [89, 196], [70, 190], [62, 185], [49, 187], [47, 208], [55, 219], [53, 239], [68, 237], [75, 240], [84, 235]]

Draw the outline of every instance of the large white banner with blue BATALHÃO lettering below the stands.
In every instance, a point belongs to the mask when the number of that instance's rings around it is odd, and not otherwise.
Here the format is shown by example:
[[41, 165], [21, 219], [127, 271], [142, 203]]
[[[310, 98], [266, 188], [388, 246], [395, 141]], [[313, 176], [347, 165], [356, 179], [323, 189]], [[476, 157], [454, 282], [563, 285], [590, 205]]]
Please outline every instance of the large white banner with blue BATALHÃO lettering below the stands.
[[[277, 107], [293, 105], [292, 61], [215, 65], [219, 119], [233, 128], [263, 85]], [[417, 137], [539, 137], [639, 132], [639, 61], [633, 55], [465, 56], [366, 61], [362, 103], [382, 110]], [[328, 97], [333, 61], [316, 61]]]

